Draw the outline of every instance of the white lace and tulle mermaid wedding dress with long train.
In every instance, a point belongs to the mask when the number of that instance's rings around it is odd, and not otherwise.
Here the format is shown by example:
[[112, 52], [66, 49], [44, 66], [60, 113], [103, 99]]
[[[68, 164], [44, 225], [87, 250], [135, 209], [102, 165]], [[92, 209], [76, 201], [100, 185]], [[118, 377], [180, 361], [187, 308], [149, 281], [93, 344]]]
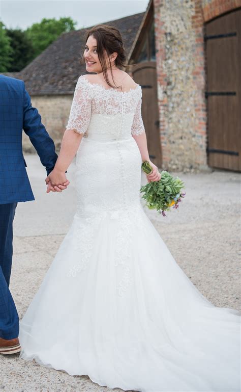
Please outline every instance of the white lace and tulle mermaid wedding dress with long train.
[[77, 212], [20, 322], [20, 357], [110, 388], [238, 392], [239, 312], [197, 290], [141, 205], [141, 99], [79, 77]]

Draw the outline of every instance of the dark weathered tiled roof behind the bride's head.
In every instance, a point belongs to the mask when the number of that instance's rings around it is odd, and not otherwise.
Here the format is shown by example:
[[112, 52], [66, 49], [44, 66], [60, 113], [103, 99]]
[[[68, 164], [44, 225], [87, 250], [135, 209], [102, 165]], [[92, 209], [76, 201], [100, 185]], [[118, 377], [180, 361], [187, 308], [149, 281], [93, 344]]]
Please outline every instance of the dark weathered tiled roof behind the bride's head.
[[[102, 23], [113, 25], [120, 31], [127, 55], [144, 14], [141, 12]], [[17, 73], [16, 77], [25, 82], [29, 94], [73, 94], [78, 77], [86, 72], [85, 65], [80, 64], [80, 57], [84, 51], [84, 34], [89, 28], [62, 34], [32, 63]]]

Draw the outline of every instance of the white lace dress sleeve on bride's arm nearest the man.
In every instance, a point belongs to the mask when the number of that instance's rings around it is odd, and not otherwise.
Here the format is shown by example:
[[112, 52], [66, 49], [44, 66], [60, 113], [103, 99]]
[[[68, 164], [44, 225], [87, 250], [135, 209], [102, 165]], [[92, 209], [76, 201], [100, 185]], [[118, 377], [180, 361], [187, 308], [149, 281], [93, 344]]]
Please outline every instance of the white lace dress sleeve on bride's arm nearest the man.
[[70, 109], [70, 116], [66, 129], [74, 129], [78, 134], [84, 134], [91, 120], [91, 96], [86, 84], [83, 83], [84, 76], [80, 76], [75, 87], [74, 97]]

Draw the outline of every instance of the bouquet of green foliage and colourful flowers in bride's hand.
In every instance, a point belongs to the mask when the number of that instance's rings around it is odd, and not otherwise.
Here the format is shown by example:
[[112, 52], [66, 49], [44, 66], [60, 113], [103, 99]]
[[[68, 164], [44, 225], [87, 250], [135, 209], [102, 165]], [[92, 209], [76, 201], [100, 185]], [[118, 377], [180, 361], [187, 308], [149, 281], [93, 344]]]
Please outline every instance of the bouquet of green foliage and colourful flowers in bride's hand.
[[[146, 174], [153, 171], [148, 161], [144, 161], [141, 168]], [[140, 192], [143, 193], [142, 199], [146, 200], [149, 210], [157, 210], [165, 217], [165, 211], [170, 211], [171, 206], [174, 209], [178, 208], [178, 203], [186, 195], [186, 192], [181, 193], [182, 188], [184, 188], [184, 182], [179, 177], [174, 178], [163, 170], [159, 181], [148, 182], [141, 187]]]

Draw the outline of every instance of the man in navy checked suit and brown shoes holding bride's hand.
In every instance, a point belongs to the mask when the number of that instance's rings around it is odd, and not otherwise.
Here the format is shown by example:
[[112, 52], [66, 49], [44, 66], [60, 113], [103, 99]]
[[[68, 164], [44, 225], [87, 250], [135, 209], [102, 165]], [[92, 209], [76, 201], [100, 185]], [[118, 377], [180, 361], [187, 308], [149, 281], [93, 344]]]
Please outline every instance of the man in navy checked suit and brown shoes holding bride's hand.
[[[0, 75], [0, 353], [20, 351], [19, 318], [9, 282], [13, 255], [13, 219], [18, 202], [35, 200], [22, 152], [22, 129], [31, 140], [47, 175], [57, 160], [38, 110], [32, 107], [24, 82]], [[51, 184], [50, 184], [51, 185]], [[62, 192], [69, 185], [55, 189]], [[49, 188], [49, 187], [48, 187]]]

